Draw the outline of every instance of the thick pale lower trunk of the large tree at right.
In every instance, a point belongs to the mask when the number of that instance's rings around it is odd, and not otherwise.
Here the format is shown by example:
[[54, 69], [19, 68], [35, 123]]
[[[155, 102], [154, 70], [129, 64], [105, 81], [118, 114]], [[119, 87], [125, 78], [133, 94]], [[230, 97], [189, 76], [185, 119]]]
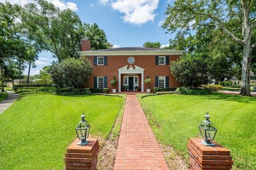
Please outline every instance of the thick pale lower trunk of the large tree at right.
[[242, 84], [241, 96], [252, 96], [250, 93], [250, 61], [252, 57], [252, 49], [250, 43], [244, 44], [244, 55], [241, 61], [242, 64]]

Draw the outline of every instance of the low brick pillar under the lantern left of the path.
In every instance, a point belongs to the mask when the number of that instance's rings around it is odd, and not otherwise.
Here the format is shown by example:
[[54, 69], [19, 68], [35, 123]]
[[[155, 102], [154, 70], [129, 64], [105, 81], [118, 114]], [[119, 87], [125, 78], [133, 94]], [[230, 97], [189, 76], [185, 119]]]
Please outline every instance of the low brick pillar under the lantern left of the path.
[[64, 157], [65, 170], [96, 170], [98, 151], [100, 145], [98, 139], [88, 138], [87, 145], [77, 145], [77, 138], [67, 149]]

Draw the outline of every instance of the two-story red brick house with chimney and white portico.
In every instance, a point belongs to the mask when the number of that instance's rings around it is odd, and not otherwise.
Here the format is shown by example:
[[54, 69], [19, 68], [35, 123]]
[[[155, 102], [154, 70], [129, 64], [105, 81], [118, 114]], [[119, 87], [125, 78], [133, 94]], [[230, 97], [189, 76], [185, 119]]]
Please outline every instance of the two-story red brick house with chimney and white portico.
[[176, 61], [186, 51], [150, 49], [142, 47], [123, 47], [90, 51], [90, 41], [81, 40], [80, 56], [88, 58], [93, 65], [87, 88], [108, 88], [112, 92], [110, 81], [118, 79], [116, 91], [124, 91], [122, 85], [128, 85], [129, 91], [139, 86], [146, 92], [144, 79], [151, 78], [151, 92], [154, 87], [179, 87], [181, 84], [170, 74], [170, 61]]

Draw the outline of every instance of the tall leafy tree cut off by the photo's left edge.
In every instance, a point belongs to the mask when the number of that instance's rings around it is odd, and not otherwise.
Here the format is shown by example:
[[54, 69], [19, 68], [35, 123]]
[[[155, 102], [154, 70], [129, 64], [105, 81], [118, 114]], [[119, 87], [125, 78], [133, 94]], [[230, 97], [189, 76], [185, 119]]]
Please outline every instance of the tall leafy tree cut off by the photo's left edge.
[[0, 3], [0, 81], [4, 91], [4, 80], [8, 78], [8, 61], [26, 56], [27, 45], [19, 34], [17, 19], [21, 7], [9, 2]]

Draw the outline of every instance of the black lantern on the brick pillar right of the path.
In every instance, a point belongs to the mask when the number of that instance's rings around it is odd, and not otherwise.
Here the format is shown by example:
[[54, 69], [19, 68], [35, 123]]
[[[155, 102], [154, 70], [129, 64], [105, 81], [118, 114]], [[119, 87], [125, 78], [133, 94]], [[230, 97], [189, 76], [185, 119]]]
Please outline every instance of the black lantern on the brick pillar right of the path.
[[202, 143], [206, 146], [215, 146], [213, 143], [211, 143], [211, 141], [214, 140], [214, 137], [216, 135], [216, 126], [209, 120], [210, 115], [208, 115], [208, 112], [206, 112], [206, 115], [204, 117], [206, 118], [206, 120], [203, 120], [199, 124], [201, 136], [202, 138], [204, 138], [204, 141], [202, 141]]

